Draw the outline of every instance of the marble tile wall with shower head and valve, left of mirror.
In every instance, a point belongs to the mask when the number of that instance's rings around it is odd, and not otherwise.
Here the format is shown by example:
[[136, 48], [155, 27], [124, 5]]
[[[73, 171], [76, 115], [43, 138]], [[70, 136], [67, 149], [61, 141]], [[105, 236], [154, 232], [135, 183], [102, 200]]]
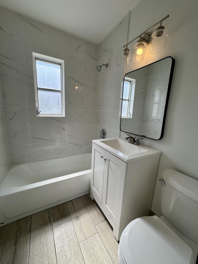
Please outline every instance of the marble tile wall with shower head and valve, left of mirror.
[[120, 134], [120, 105], [124, 68], [120, 65], [120, 54], [127, 39], [128, 15], [98, 45], [98, 65], [108, 63], [108, 67], [97, 72], [96, 139], [101, 129], [107, 138]]

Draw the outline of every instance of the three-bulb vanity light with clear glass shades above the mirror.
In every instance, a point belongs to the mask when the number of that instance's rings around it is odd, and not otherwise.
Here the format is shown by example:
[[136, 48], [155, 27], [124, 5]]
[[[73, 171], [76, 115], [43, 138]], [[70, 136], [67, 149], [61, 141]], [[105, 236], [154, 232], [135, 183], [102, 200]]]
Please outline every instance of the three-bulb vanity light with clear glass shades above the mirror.
[[[165, 27], [161, 25], [161, 22], [168, 18], [169, 15], [161, 19], [159, 22], [154, 24], [152, 27], [141, 33], [139, 36], [128, 42], [126, 45], [123, 46], [125, 48], [123, 50], [124, 56], [127, 57], [130, 54], [130, 51], [127, 47], [132, 41], [136, 40], [137, 38], [140, 38], [136, 44], [133, 45], [133, 60], [135, 62], [140, 62], [144, 60], [144, 55], [147, 46], [151, 43], [151, 53], [152, 54], [158, 54], [164, 51], [166, 40], [168, 36], [168, 31], [165, 30]], [[160, 26], [156, 29], [153, 34], [149, 32], [152, 28], [160, 24]], [[125, 59], [125, 61], [128, 61], [128, 59]]]

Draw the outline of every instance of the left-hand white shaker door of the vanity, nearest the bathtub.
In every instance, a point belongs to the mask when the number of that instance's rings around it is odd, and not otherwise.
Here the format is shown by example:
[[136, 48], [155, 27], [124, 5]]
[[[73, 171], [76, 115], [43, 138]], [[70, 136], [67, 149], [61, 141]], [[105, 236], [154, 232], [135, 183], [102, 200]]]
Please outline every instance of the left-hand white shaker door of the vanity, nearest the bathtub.
[[102, 203], [105, 150], [92, 144], [91, 188]]

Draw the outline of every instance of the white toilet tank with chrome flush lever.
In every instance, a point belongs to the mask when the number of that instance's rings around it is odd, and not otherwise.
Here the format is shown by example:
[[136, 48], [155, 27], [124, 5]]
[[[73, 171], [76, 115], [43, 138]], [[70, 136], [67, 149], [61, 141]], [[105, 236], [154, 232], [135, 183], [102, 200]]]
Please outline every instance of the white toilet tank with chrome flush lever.
[[164, 216], [198, 244], [198, 181], [173, 169], [162, 173], [161, 208]]

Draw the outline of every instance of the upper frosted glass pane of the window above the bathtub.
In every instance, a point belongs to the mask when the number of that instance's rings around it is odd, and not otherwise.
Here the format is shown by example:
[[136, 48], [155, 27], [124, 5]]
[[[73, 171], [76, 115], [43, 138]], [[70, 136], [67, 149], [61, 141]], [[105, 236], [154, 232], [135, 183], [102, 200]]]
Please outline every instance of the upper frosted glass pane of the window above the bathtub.
[[36, 60], [37, 85], [39, 88], [61, 90], [61, 66]]

